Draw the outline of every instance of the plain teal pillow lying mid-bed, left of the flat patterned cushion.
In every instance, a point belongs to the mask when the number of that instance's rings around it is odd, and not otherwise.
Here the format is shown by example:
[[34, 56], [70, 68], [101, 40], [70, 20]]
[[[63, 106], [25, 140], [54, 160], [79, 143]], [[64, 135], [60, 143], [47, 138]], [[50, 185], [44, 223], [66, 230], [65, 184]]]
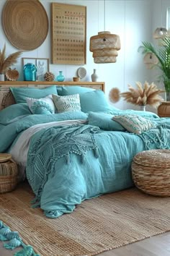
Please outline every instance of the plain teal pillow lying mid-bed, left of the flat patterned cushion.
[[102, 112], [89, 112], [88, 121], [89, 124], [99, 127], [107, 131], [120, 131], [125, 132], [125, 128], [117, 121], [112, 120], [111, 114], [104, 114]]

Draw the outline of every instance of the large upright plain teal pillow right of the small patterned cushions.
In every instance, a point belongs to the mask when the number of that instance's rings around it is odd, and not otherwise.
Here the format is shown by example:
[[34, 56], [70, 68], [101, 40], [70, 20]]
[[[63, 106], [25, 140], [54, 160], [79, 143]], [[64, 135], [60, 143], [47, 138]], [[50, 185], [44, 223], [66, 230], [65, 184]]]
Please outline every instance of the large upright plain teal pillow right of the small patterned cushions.
[[81, 111], [107, 112], [110, 110], [107, 98], [102, 90], [93, 90], [80, 94]]

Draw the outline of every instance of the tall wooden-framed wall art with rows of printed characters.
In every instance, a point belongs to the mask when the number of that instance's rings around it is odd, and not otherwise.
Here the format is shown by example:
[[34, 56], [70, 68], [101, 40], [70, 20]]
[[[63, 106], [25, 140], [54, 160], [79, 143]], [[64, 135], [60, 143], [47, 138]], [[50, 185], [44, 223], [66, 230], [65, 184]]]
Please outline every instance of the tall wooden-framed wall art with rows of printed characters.
[[51, 3], [53, 64], [86, 64], [86, 7]]

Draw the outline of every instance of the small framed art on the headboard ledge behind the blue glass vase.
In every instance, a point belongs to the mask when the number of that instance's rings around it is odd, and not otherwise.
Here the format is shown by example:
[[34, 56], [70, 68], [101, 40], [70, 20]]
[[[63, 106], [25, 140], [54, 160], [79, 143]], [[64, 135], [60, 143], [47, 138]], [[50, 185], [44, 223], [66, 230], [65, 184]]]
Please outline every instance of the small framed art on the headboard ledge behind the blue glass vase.
[[44, 75], [49, 72], [49, 59], [43, 58], [22, 58], [22, 65], [32, 63], [37, 67], [37, 81], [44, 81]]

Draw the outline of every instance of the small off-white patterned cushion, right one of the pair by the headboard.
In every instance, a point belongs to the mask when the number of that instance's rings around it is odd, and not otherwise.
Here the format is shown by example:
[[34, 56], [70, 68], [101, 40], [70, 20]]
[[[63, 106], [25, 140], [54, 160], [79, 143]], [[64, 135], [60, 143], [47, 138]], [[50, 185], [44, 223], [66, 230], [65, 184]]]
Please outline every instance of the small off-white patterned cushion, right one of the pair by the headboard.
[[59, 96], [52, 94], [55, 107], [58, 113], [66, 111], [81, 111], [79, 94]]

